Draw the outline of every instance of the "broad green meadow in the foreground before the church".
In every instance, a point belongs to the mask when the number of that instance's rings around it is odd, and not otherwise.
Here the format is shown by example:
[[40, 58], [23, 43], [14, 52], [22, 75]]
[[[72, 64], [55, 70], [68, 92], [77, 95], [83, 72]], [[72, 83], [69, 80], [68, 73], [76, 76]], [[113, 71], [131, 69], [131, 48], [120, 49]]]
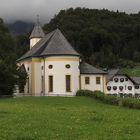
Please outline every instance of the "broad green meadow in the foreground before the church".
[[1, 99], [0, 140], [140, 140], [140, 110], [86, 97]]

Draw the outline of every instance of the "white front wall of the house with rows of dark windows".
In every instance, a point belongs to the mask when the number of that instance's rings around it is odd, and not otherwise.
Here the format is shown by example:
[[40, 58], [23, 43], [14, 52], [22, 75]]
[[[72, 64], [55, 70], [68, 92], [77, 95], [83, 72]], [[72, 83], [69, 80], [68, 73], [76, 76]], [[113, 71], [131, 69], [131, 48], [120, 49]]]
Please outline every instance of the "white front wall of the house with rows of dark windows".
[[[118, 82], [115, 82], [114, 81], [114, 78], [118, 78], [119, 81]], [[131, 80], [128, 79], [128, 81], [125, 80], [125, 78], [127, 78], [126, 76], [115, 76], [113, 78], [113, 81], [110, 81], [107, 83], [107, 86], [111, 86], [111, 90], [107, 91], [107, 94], [119, 94], [119, 93], [132, 93], [132, 94], [135, 94], [135, 89], [134, 89], [134, 84], [131, 82]], [[120, 78], [124, 78], [124, 82], [120, 82]], [[117, 86], [117, 90], [113, 90], [113, 86]], [[119, 86], [123, 86], [123, 90], [121, 91], [119, 89]], [[132, 86], [132, 90], [128, 90], [128, 86]]]

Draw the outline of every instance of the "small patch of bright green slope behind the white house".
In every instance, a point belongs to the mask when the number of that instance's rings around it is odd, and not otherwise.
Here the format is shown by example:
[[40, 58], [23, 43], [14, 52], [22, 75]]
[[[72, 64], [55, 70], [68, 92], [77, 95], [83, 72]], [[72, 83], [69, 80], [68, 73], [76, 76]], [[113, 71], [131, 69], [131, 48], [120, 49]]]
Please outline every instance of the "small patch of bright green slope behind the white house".
[[137, 66], [133, 69], [126, 68], [124, 69], [124, 72], [126, 72], [130, 76], [140, 76], [140, 66]]

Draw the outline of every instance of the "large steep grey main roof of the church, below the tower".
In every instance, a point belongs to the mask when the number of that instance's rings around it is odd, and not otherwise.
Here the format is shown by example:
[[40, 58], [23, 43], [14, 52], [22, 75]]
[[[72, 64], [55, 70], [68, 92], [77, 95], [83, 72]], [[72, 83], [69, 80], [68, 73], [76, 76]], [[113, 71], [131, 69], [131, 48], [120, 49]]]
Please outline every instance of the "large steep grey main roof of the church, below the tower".
[[35, 46], [25, 53], [17, 61], [30, 57], [43, 56], [80, 56], [70, 45], [59, 29], [52, 31], [43, 37]]

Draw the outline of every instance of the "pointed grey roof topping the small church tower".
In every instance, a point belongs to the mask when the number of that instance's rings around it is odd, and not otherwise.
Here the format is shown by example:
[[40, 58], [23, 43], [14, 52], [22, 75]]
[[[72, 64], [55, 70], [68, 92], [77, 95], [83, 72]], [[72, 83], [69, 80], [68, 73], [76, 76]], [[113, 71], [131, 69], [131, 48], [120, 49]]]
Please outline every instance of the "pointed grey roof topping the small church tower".
[[39, 24], [37, 24], [34, 26], [34, 29], [30, 35], [30, 39], [31, 38], [42, 38], [44, 36], [45, 36], [45, 34], [44, 34], [41, 26]]

